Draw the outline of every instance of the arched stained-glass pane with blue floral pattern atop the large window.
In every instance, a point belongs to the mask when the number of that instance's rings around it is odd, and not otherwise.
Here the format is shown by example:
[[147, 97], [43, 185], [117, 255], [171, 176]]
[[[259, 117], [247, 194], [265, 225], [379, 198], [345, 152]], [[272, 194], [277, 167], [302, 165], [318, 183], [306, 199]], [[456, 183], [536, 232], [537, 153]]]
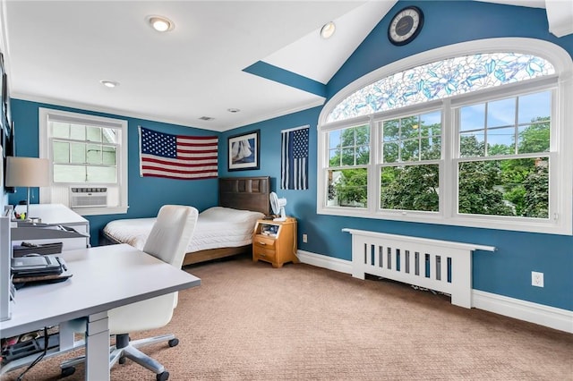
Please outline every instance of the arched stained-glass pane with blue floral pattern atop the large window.
[[332, 110], [327, 122], [454, 97], [555, 73], [536, 55], [483, 53], [426, 63], [359, 89]]

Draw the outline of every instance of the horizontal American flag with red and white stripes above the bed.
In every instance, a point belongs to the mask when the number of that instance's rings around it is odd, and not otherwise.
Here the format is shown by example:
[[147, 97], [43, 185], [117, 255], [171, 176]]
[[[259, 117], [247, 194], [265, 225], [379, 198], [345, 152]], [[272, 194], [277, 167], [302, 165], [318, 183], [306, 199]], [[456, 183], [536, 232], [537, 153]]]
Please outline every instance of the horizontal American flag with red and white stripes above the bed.
[[218, 137], [184, 136], [140, 127], [140, 174], [170, 179], [217, 177]]

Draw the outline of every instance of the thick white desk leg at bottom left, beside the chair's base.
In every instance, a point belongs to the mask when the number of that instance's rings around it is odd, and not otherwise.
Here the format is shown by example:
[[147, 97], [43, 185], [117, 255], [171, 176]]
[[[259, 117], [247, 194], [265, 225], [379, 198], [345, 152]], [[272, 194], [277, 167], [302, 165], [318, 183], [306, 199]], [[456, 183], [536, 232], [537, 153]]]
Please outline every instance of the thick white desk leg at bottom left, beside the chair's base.
[[107, 311], [90, 315], [86, 332], [86, 380], [109, 381]]

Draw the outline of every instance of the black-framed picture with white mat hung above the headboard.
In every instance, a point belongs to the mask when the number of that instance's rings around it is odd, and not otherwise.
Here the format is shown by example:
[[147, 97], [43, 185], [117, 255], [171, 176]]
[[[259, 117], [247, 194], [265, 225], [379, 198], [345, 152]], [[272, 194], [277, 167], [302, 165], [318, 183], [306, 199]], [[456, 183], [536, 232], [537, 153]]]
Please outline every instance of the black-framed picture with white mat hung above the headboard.
[[234, 135], [228, 138], [228, 170], [259, 169], [261, 130]]

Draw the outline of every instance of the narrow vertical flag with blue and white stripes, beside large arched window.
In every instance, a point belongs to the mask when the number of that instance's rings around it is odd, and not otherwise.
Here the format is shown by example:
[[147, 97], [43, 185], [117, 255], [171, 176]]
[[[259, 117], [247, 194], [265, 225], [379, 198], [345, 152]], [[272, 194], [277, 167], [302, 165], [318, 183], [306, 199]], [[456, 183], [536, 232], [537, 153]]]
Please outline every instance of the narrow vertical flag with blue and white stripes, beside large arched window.
[[280, 188], [308, 189], [308, 132], [309, 126], [282, 131], [280, 149]]

